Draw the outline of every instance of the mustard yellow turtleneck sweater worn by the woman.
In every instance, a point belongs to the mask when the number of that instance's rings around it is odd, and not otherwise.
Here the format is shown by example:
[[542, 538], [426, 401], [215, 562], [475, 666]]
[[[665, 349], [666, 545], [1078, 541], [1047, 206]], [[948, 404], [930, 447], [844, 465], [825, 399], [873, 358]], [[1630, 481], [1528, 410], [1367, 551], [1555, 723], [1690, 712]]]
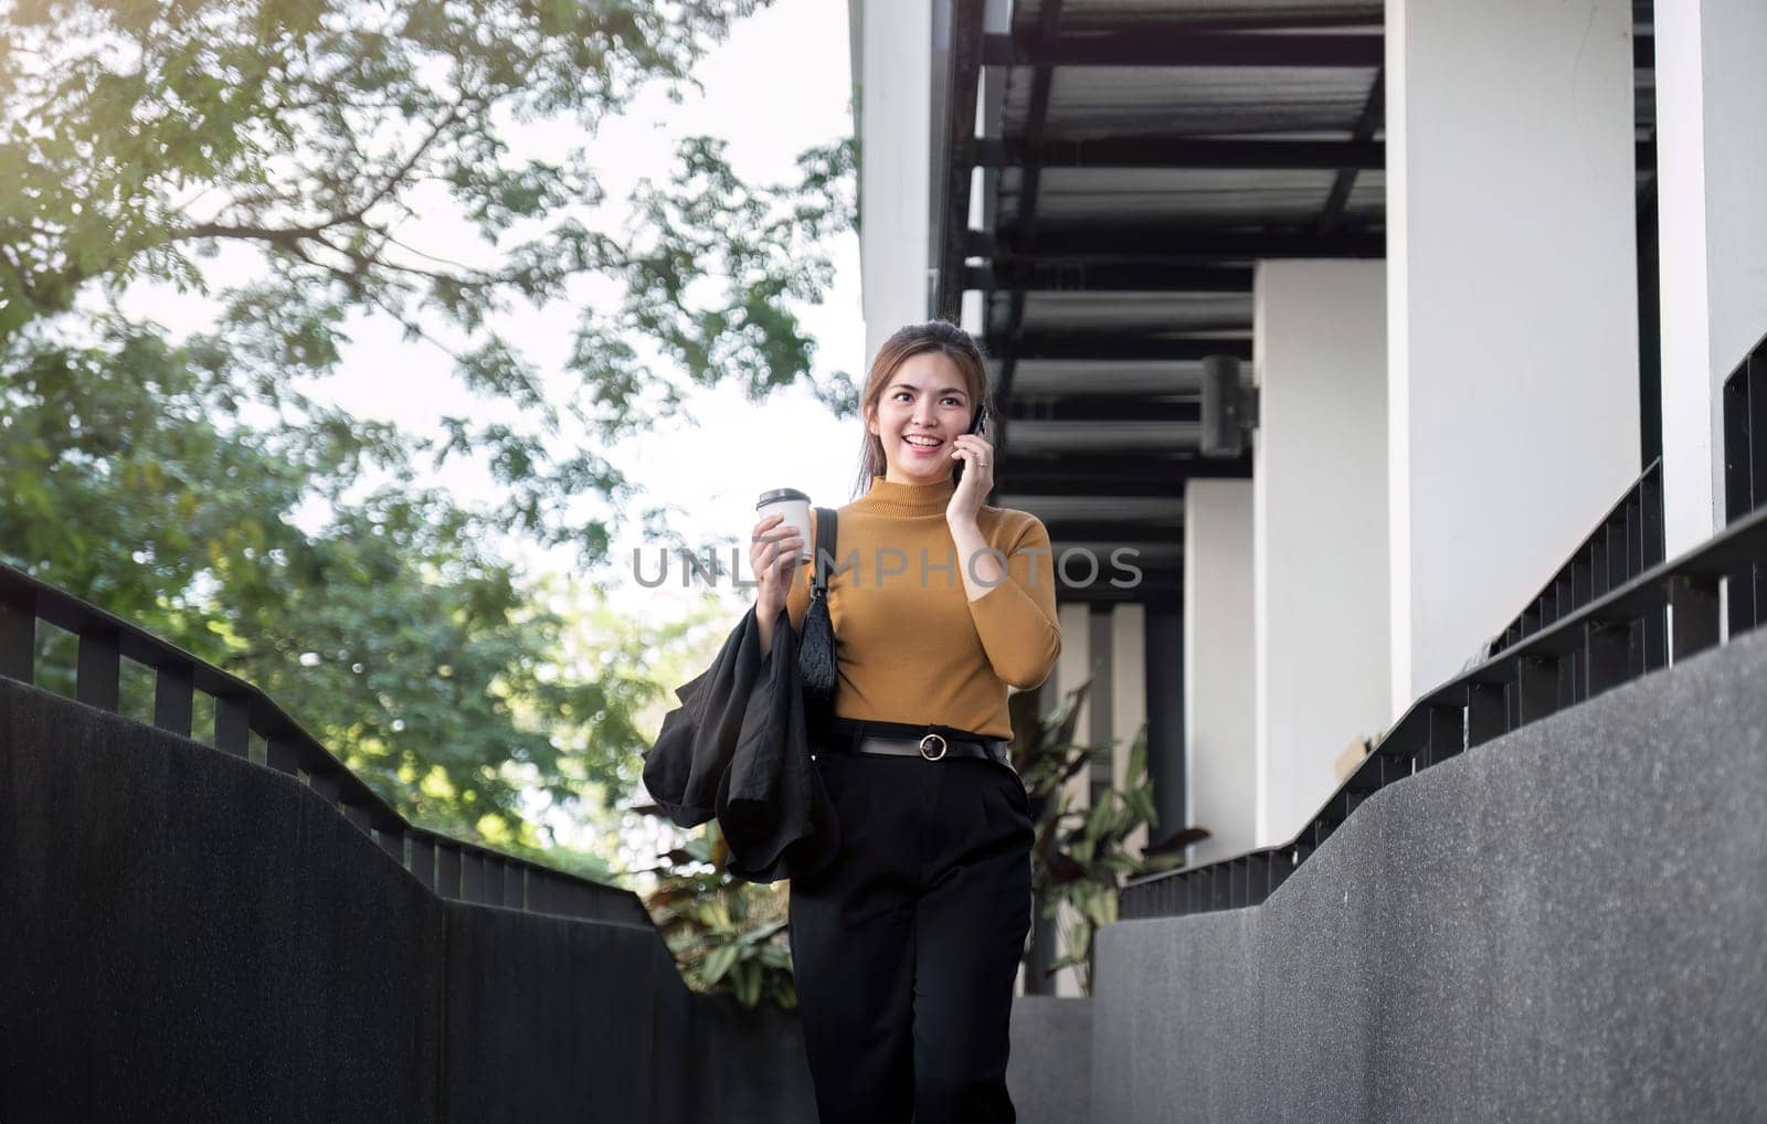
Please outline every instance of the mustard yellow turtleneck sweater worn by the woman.
[[[1005, 574], [970, 601], [945, 523], [954, 491], [951, 479], [894, 484], [878, 475], [839, 509], [829, 567], [836, 718], [1012, 737], [1007, 686], [1035, 687], [1055, 666], [1062, 633], [1050, 532], [1037, 516], [984, 505], [975, 523], [1005, 555]], [[809, 608], [809, 578], [811, 567], [799, 566], [786, 596], [793, 629]]]

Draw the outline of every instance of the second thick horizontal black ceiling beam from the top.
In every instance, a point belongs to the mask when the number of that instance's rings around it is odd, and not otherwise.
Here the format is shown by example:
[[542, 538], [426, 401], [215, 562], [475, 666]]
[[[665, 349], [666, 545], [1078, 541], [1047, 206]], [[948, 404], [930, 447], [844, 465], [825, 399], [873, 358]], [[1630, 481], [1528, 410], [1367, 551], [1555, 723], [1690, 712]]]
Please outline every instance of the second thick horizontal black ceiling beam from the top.
[[1385, 145], [1352, 141], [1248, 141], [1189, 136], [1111, 136], [1044, 140], [1032, 148], [1021, 140], [984, 140], [975, 145], [982, 168], [1382, 168]]

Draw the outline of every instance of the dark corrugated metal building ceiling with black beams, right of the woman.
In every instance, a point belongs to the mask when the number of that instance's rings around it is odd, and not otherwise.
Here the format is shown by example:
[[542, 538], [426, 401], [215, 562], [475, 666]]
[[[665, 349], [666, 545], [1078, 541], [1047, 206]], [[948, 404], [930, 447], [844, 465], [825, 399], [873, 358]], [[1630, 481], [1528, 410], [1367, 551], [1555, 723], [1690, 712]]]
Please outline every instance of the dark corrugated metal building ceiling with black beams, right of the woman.
[[[1260, 258], [1385, 256], [1380, 0], [952, 0], [938, 308], [979, 293], [1004, 414], [997, 495], [1064, 541], [1145, 544], [1175, 597], [1203, 458], [1200, 361], [1251, 359]], [[1634, 2], [1640, 189], [1654, 168], [1650, 0]], [[977, 120], [982, 136], [956, 122]], [[975, 177], [972, 170], [981, 170]], [[981, 186], [981, 228], [970, 217]], [[1048, 498], [1043, 511], [1037, 502]], [[1060, 498], [1060, 502], [1055, 502]], [[1076, 500], [1090, 498], [1087, 509]], [[1064, 592], [1064, 596], [1073, 596]]]

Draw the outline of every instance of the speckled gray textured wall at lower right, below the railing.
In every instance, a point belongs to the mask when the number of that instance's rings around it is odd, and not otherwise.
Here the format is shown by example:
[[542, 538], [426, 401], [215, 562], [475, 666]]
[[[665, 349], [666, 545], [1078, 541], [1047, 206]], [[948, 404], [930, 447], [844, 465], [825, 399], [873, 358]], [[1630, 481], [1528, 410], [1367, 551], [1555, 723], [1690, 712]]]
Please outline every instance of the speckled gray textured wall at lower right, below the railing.
[[1767, 1120], [1767, 634], [1099, 933], [1094, 1124]]

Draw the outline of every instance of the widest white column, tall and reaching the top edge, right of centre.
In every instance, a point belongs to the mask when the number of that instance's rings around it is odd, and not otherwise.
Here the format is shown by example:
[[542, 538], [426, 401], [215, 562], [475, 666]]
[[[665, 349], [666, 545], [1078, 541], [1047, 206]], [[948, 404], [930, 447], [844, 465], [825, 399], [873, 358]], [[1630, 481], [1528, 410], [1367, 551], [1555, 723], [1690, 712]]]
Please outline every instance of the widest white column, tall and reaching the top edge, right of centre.
[[1631, 0], [1387, 0], [1392, 698], [1636, 479]]

